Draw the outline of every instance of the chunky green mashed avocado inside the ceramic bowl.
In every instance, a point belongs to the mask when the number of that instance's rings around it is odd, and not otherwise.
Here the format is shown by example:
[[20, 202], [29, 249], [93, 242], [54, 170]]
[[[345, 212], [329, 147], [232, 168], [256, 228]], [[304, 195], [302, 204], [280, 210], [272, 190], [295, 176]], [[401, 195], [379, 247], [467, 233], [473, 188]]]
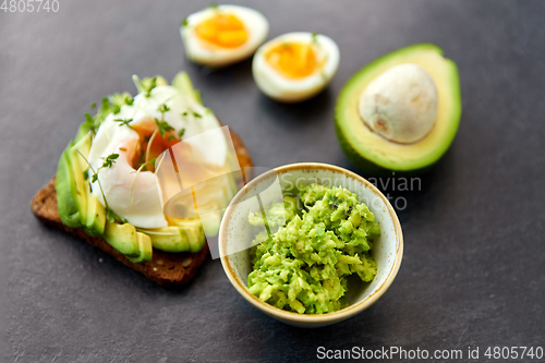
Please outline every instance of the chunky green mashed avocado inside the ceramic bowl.
[[[247, 286], [259, 300], [300, 314], [331, 313], [348, 305], [347, 276], [355, 273], [365, 282], [375, 278], [370, 252], [380, 228], [354, 193], [301, 185], [299, 199], [286, 196], [284, 205], [272, 205], [267, 215], [269, 227], [286, 222], [251, 251]], [[249, 220], [263, 223], [261, 215]]]

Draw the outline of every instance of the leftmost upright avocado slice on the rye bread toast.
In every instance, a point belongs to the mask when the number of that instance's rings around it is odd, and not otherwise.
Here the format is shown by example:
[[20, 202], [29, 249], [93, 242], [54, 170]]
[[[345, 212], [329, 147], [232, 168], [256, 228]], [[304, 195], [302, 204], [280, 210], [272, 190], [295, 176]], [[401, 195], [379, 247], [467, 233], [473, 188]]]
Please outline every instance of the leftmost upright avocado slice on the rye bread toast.
[[[69, 145], [66, 150], [71, 147]], [[77, 203], [77, 187], [74, 174], [70, 167], [68, 152], [64, 150], [59, 159], [55, 190], [57, 191], [57, 207], [62, 222], [71, 228], [82, 227], [80, 207]]]

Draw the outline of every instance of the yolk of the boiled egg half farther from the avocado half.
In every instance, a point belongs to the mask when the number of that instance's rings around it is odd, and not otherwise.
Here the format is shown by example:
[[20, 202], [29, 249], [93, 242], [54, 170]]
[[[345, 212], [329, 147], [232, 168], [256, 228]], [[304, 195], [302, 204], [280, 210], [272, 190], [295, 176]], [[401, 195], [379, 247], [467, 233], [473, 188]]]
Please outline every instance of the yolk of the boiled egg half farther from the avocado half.
[[221, 48], [237, 48], [246, 43], [247, 31], [233, 14], [217, 13], [195, 27], [203, 40]]

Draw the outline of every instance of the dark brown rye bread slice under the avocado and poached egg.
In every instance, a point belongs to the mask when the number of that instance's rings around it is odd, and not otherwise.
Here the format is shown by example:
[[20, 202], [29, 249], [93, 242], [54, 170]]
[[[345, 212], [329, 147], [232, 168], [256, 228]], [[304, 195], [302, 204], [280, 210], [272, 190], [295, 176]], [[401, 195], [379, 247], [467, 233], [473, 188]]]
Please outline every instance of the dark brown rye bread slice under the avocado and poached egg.
[[[234, 149], [242, 168], [251, 167], [252, 159], [239, 135], [231, 131]], [[133, 264], [124, 255], [116, 251], [100, 237], [90, 237], [81, 228], [70, 228], [62, 223], [57, 208], [57, 192], [55, 190], [55, 178], [34, 196], [31, 209], [46, 226], [50, 226], [69, 233], [72, 233], [89, 244], [112, 255], [123, 265], [135, 269], [148, 279], [164, 287], [175, 287], [190, 281], [208, 255], [208, 244], [205, 243], [203, 250], [196, 253], [168, 253], [154, 249], [154, 256], [150, 262]]]

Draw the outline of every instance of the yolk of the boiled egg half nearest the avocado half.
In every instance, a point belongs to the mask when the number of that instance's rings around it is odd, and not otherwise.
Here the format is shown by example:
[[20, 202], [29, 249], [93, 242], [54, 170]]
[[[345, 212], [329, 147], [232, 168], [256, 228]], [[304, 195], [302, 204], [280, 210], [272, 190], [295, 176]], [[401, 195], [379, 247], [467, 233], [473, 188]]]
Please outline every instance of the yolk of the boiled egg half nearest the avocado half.
[[265, 53], [267, 63], [287, 78], [304, 78], [322, 66], [311, 44], [283, 43]]

